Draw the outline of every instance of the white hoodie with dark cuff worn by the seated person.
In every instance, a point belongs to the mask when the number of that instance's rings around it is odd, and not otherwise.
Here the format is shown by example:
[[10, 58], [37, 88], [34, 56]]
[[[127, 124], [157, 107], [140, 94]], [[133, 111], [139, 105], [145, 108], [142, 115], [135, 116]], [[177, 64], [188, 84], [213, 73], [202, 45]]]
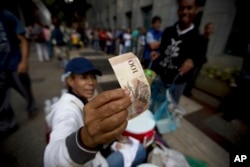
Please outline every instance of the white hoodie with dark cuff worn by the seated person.
[[64, 93], [46, 116], [50, 141], [44, 152], [45, 167], [107, 167], [106, 160], [97, 151], [80, 145], [79, 132], [84, 126], [84, 104], [76, 96]]

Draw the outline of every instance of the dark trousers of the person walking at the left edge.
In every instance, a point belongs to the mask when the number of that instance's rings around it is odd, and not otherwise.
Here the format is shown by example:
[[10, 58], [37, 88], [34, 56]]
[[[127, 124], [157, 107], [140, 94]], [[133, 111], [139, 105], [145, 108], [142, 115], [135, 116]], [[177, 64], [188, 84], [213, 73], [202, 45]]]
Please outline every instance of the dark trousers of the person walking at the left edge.
[[29, 75], [27, 73], [0, 72], [0, 132], [7, 131], [16, 124], [10, 104], [10, 88], [14, 88], [25, 98], [28, 112], [36, 110]]

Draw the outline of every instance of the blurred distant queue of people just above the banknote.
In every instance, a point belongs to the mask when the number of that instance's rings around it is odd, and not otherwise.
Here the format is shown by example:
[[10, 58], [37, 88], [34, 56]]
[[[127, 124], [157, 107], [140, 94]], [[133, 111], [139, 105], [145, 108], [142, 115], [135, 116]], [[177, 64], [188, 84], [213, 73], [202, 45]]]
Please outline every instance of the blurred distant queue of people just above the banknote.
[[[102, 50], [107, 54], [119, 55], [126, 52], [134, 52], [142, 56], [142, 49], [145, 46], [146, 29], [138, 27], [131, 31], [130, 28], [115, 30], [110, 28], [87, 28], [85, 46], [94, 50]], [[138, 55], [139, 56], [139, 55]]]

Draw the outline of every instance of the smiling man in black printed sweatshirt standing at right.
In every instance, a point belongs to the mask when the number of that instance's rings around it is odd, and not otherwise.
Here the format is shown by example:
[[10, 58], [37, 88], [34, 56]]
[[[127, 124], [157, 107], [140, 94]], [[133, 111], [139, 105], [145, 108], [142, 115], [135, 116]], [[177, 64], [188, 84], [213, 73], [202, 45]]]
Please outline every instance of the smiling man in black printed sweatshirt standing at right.
[[186, 82], [193, 76], [192, 69], [202, 64], [202, 37], [193, 24], [196, 3], [196, 0], [178, 0], [179, 21], [164, 30], [160, 54], [151, 56], [154, 60], [152, 69], [160, 76], [165, 86], [169, 87], [175, 81], [171, 93], [177, 103]]

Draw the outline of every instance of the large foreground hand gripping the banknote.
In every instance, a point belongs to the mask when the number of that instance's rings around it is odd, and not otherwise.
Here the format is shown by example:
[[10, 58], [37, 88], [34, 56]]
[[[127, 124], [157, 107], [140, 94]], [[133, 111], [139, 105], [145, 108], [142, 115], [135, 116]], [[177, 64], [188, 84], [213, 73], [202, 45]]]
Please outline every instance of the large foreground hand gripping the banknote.
[[82, 143], [90, 148], [118, 138], [127, 126], [129, 91], [115, 89], [102, 92], [84, 106]]

